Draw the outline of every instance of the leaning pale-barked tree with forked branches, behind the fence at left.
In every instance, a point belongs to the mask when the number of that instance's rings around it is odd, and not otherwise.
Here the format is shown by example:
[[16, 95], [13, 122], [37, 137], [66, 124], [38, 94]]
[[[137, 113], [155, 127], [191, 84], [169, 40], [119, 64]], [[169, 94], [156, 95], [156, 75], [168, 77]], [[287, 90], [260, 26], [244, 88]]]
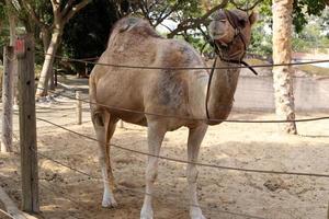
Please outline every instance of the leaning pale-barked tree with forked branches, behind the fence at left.
[[64, 27], [68, 21], [90, 3], [91, 0], [81, 0], [78, 3], [76, 3], [75, 0], [50, 0], [50, 13], [47, 2], [26, 0], [19, 0], [19, 2], [43, 35], [46, 55], [37, 84], [36, 96], [45, 96], [47, 95], [48, 80], [50, 73], [53, 73], [55, 55], [61, 41]]

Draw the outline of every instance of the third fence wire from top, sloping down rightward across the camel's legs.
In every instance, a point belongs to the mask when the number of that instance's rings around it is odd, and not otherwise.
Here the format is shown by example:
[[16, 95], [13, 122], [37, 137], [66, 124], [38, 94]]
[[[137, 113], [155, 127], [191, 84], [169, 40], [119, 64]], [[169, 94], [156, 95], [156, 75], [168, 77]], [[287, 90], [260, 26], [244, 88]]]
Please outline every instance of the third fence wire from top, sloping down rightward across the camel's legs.
[[[72, 132], [75, 135], [78, 135], [80, 137], [93, 140], [93, 141], [98, 141], [101, 143], [105, 143], [102, 141], [99, 141], [95, 138], [92, 138], [90, 136], [70, 130], [64, 126], [60, 126], [58, 124], [55, 124], [53, 122], [43, 119], [43, 118], [36, 118], [37, 120], [50, 124], [53, 126], [56, 126], [58, 128], [61, 128], [64, 130], [67, 130], [69, 132]], [[143, 151], [138, 151], [138, 150], [134, 150], [134, 149], [129, 149], [129, 148], [125, 148], [118, 145], [114, 145], [114, 143], [110, 143], [109, 146], [113, 146], [114, 148], [124, 150], [124, 151], [128, 151], [128, 152], [133, 152], [133, 153], [138, 153], [138, 154], [143, 154], [143, 155], [149, 155], [149, 157], [154, 157], [154, 158], [158, 158], [158, 159], [162, 159], [162, 160], [168, 160], [168, 161], [173, 161], [173, 162], [178, 162], [178, 163], [185, 163], [185, 164], [195, 164], [198, 166], [205, 166], [205, 168], [214, 168], [214, 169], [222, 169], [222, 170], [231, 170], [231, 171], [241, 171], [241, 172], [250, 172], [250, 173], [268, 173], [268, 174], [279, 174], [279, 175], [298, 175], [298, 176], [315, 176], [315, 177], [329, 177], [329, 174], [319, 174], [319, 173], [300, 173], [300, 172], [284, 172], [284, 171], [268, 171], [268, 170], [254, 170], [254, 169], [243, 169], [243, 168], [232, 168], [232, 166], [225, 166], [225, 165], [216, 165], [216, 164], [211, 164], [211, 163], [200, 163], [200, 162], [190, 162], [190, 161], [185, 161], [185, 160], [181, 160], [181, 159], [175, 159], [175, 158], [168, 158], [168, 157], [163, 157], [163, 155], [155, 155], [151, 153], [147, 153], [147, 152], [143, 152]]]

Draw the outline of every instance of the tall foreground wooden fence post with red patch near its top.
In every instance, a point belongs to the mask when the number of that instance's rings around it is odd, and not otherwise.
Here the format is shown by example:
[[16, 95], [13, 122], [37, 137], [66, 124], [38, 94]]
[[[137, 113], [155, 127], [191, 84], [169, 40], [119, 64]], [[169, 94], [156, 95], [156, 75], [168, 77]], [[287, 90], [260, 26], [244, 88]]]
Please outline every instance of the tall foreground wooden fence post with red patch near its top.
[[38, 212], [38, 176], [35, 120], [34, 41], [32, 35], [15, 42], [19, 60], [20, 147], [22, 171], [22, 209]]

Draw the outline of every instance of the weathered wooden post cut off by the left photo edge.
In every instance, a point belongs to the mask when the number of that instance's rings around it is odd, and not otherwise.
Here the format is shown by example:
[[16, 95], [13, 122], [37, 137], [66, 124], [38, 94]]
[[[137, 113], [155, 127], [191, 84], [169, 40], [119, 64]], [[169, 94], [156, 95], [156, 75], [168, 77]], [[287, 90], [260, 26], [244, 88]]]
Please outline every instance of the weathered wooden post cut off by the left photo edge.
[[1, 152], [12, 152], [12, 105], [13, 105], [13, 60], [12, 46], [3, 48], [3, 80], [2, 80], [2, 131]]

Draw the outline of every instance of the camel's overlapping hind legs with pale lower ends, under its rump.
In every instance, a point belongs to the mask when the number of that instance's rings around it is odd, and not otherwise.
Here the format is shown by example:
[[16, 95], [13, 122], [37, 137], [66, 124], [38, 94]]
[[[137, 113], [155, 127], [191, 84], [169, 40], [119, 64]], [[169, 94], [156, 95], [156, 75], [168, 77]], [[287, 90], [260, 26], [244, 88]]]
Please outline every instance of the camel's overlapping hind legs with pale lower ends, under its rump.
[[99, 162], [102, 171], [104, 183], [103, 207], [115, 207], [117, 204], [114, 199], [113, 189], [115, 186], [114, 176], [110, 159], [110, 140], [115, 131], [116, 118], [111, 117], [106, 111], [92, 112], [92, 122], [99, 145]]

